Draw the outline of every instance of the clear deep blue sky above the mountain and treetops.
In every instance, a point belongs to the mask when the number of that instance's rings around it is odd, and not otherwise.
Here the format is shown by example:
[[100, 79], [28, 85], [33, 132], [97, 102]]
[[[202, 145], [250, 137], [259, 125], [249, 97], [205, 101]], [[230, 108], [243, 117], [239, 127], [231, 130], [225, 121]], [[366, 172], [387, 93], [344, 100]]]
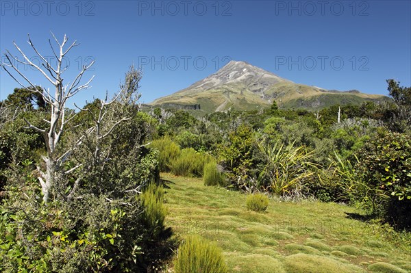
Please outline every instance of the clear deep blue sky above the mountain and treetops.
[[[51, 56], [50, 32], [80, 45], [67, 55], [71, 81], [95, 60], [83, 105], [114, 94], [129, 65], [143, 70], [149, 103], [242, 60], [297, 83], [387, 94], [386, 79], [411, 86], [411, 1], [5, 1], [0, 51], [36, 60], [27, 33]], [[1, 60], [4, 60], [2, 57]], [[53, 62], [53, 59], [50, 59]], [[47, 86], [32, 68], [25, 73]], [[0, 100], [18, 84], [0, 70]]]

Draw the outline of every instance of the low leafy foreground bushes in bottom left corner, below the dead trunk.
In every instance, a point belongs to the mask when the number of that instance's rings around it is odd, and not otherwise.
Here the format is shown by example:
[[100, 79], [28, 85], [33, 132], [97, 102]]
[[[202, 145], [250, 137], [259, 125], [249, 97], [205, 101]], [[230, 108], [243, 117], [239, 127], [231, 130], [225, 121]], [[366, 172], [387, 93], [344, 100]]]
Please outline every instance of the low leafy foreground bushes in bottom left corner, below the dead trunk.
[[25, 162], [10, 172], [0, 216], [1, 272], [145, 272], [164, 231], [161, 190], [150, 186], [142, 201], [136, 192], [122, 199], [84, 194], [45, 206], [32, 167]]

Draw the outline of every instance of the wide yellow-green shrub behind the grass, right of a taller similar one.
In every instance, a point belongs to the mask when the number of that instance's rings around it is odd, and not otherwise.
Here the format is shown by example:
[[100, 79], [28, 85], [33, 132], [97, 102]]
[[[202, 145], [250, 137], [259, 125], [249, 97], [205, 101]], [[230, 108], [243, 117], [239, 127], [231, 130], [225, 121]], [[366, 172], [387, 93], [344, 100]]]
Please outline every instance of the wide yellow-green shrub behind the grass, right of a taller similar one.
[[184, 177], [202, 177], [204, 165], [211, 160], [205, 153], [198, 153], [193, 148], [182, 149], [179, 157], [170, 162], [171, 172]]

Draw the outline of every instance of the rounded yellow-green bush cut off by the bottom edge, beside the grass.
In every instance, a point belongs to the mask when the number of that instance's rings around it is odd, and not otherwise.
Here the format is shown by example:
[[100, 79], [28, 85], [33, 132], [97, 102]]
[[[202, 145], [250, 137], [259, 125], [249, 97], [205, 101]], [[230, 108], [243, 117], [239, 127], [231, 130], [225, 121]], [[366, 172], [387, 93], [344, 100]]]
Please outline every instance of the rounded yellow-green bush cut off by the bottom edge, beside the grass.
[[220, 248], [198, 235], [188, 237], [179, 246], [174, 270], [175, 273], [228, 272]]

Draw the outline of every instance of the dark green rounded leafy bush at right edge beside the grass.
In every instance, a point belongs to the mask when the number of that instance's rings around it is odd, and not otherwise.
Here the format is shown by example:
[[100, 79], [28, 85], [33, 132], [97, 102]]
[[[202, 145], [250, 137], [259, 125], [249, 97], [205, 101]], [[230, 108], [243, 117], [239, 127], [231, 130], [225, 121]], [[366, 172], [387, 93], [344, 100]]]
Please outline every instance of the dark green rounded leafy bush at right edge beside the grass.
[[356, 167], [373, 192], [373, 211], [397, 226], [409, 228], [411, 135], [380, 133], [375, 140], [365, 144], [359, 155]]

